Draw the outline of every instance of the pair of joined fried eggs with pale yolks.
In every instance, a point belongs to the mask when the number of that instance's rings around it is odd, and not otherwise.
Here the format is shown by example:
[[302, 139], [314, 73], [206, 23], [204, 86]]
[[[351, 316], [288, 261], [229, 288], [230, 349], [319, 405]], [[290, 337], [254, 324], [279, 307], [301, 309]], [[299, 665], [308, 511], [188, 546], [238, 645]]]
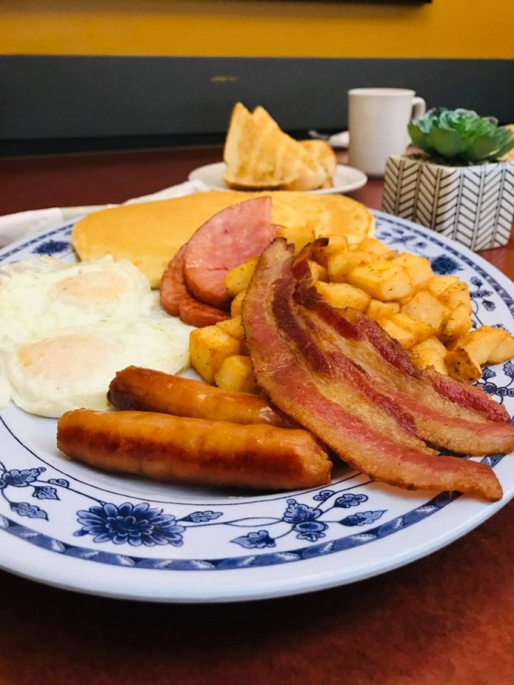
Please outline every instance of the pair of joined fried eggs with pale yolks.
[[112, 408], [117, 371], [176, 373], [193, 330], [168, 316], [129, 261], [31, 258], [0, 268], [0, 407], [46, 417]]

